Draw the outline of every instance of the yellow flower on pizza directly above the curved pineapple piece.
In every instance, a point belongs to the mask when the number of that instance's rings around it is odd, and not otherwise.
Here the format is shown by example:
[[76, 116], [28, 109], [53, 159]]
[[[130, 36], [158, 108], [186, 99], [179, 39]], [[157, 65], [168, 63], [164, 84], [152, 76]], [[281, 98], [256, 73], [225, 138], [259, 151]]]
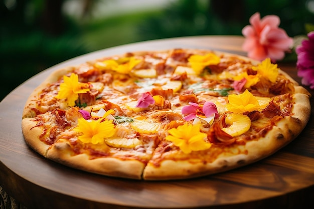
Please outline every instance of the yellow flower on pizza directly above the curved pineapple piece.
[[252, 112], [261, 108], [257, 98], [247, 89], [242, 94], [228, 95], [226, 108], [234, 113]]

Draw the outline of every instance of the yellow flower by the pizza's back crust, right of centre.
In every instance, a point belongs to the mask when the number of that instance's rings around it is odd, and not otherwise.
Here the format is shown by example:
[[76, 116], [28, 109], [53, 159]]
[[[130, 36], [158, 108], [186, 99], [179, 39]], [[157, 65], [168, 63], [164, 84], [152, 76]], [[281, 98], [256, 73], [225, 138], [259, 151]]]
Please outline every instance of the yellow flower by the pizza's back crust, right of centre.
[[220, 58], [214, 53], [209, 53], [206, 55], [192, 55], [188, 61], [195, 73], [199, 75], [206, 66], [217, 65], [220, 62]]

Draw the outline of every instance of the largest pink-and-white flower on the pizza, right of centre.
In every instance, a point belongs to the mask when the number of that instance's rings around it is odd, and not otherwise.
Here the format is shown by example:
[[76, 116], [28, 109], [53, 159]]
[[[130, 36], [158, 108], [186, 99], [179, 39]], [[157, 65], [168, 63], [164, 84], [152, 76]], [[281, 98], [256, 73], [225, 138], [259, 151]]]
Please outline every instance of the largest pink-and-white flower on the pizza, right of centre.
[[189, 102], [189, 105], [184, 106], [181, 109], [184, 120], [193, 120], [193, 124], [199, 123], [200, 120], [204, 120], [209, 124], [212, 124], [214, 119], [218, 117], [217, 107], [212, 102], [205, 102], [203, 105]]

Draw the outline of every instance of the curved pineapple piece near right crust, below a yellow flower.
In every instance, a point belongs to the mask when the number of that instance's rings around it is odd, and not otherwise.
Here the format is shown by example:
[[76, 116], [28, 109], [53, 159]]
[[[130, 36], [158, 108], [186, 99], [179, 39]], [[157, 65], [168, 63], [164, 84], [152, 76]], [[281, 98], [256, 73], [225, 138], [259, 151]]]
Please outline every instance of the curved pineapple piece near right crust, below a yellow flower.
[[230, 125], [222, 130], [235, 137], [247, 132], [251, 127], [251, 120], [248, 116], [238, 113], [231, 113], [226, 117], [226, 124]]

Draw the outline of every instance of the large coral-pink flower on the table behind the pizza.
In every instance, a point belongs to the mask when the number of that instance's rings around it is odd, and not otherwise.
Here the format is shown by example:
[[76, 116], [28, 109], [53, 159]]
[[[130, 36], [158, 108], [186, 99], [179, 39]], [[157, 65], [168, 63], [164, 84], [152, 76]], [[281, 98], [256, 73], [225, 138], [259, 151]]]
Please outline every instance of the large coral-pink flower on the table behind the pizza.
[[245, 37], [242, 49], [248, 52], [247, 56], [262, 61], [269, 57], [272, 61], [284, 58], [285, 52], [293, 44], [293, 39], [279, 28], [280, 18], [276, 15], [267, 15], [260, 19], [257, 12], [250, 18], [251, 25], [242, 29]]

